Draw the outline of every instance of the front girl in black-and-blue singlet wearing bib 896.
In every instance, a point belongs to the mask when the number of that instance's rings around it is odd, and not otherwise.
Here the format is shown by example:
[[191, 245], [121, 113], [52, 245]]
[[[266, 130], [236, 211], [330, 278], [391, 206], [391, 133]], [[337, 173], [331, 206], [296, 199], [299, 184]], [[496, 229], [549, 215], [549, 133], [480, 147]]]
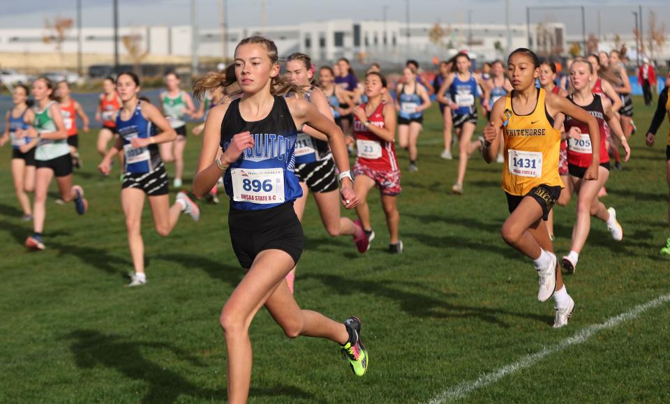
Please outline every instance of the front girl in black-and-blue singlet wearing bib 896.
[[[360, 320], [352, 316], [338, 323], [301, 310], [285, 280], [304, 246], [292, 206], [302, 194], [293, 172], [297, 128], [309, 124], [328, 137], [340, 172], [342, 202], [352, 209], [359, 200], [352, 189], [342, 131], [308, 101], [283, 96], [301, 90], [281, 77], [277, 61], [274, 42], [260, 36], [245, 38], [234, 52], [234, 76], [221, 73], [218, 80], [195, 85], [197, 96], [235, 81], [243, 91], [240, 100], [209, 112], [193, 180], [193, 193], [202, 197], [224, 174], [232, 248], [241, 267], [248, 269], [221, 312], [230, 403], [245, 403], [248, 398], [252, 364], [248, 331], [261, 306], [289, 337], [314, 336], [339, 343], [355, 374], [364, 375], [368, 365], [359, 337]], [[216, 158], [219, 148], [223, 155]]]

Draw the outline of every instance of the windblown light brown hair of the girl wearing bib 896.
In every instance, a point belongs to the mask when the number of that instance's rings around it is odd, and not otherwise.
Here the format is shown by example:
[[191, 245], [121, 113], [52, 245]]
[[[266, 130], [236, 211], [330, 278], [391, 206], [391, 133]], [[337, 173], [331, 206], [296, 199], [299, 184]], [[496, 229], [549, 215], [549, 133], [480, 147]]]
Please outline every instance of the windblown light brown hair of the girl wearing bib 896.
[[[265, 46], [265, 49], [267, 50], [267, 57], [270, 59], [270, 64], [274, 66], [278, 62], [279, 57], [277, 52], [277, 45], [275, 45], [271, 39], [265, 38], [265, 36], [250, 36], [248, 38], [244, 38], [243, 40], [239, 41], [237, 47], [235, 47], [235, 53], [237, 54], [237, 50], [241, 45], [248, 44], [258, 44]], [[236, 82], [237, 77], [235, 76], [235, 65], [233, 63], [223, 71], [209, 72], [200, 78], [200, 80], [195, 82], [195, 85], [193, 86], [193, 95], [195, 98], [202, 100], [207, 91], [216, 89], [218, 87], [225, 89], [225, 87], [228, 87]], [[286, 78], [282, 75], [276, 75], [275, 77], [271, 78], [270, 93], [273, 96], [283, 96], [286, 93], [294, 91], [301, 93], [302, 89], [300, 89], [295, 84], [292, 84], [289, 80], [286, 80]]]

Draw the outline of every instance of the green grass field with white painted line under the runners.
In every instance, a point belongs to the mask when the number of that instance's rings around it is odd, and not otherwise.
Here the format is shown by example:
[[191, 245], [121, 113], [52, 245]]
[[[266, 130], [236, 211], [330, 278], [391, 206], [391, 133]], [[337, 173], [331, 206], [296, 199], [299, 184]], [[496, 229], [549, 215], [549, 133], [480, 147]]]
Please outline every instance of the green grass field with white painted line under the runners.
[[[565, 278], [576, 301], [568, 327], [551, 328], [553, 301], [537, 302], [532, 263], [500, 237], [507, 217], [502, 165], [472, 158], [465, 195], [451, 194], [456, 160], [439, 158], [441, 125], [433, 107], [420, 140], [419, 172], [406, 172], [400, 152], [405, 254], [386, 252], [375, 193], [369, 202], [377, 239], [365, 255], [348, 237], [328, 237], [313, 202], [304, 220], [297, 301], [336, 319], [362, 318], [368, 373], [352, 375], [334, 343], [288, 340], [260, 311], [251, 326], [250, 401], [669, 402], [670, 260], [658, 255], [668, 237], [667, 124], [656, 147], [644, 147], [653, 112], [639, 99], [635, 107], [632, 159], [613, 172], [604, 199], [616, 207], [625, 236], [617, 244], [604, 223], [593, 221], [579, 268]], [[225, 401], [218, 314], [243, 275], [230, 246], [228, 204], [201, 204], [200, 222], [182, 216], [167, 238], [154, 232], [145, 207], [149, 283], [126, 288], [132, 265], [120, 184], [96, 172], [95, 138], [82, 135], [85, 165], [75, 172], [89, 212], [77, 217], [71, 205], [54, 204], [53, 193], [47, 249], [40, 253], [22, 246], [31, 225], [20, 220], [10, 149], [0, 149], [0, 402]], [[199, 143], [189, 137], [188, 173]], [[555, 217], [562, 255], [574, 201]]]

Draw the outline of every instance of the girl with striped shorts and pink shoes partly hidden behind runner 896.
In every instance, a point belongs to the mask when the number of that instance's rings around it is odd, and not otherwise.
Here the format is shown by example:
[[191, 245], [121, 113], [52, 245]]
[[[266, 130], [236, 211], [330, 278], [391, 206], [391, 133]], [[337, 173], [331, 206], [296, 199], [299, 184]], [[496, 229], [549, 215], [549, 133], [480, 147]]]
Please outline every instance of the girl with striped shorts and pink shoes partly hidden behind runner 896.
[[[292, 84], [304, 90], [304, 98], [332, 120], [329, 101], [320, 89], [312, 86], [314, 73], [311, 58], [304, 53], [291, 54], [286, 61], [285, 72], [286, 78]], [[288, 96], [299, 97], [297, 93], [290, 93]], [[295, 175], [302, 188], [302, 196], [295, 200], [293, 205], [298, 220], [302, 221], [307, 196], [311, 190], [328, 234], [331, 237], [352, 236], [359, 253], [365, 253], [370, 244], [365, 237], [363, 225], [340, 215], [338, 179], [328, 138], [309, 126], [304, 126], [298, 131], [295, 144]], [[293, 292], [295, 268], [290, 271], [286, 280]]]

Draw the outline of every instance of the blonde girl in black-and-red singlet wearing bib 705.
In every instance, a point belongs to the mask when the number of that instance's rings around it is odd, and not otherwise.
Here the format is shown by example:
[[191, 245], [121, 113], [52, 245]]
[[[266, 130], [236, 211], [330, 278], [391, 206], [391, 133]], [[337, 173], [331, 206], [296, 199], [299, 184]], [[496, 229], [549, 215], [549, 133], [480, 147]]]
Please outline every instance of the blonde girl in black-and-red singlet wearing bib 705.
[[[613, 239], [616, 241], [623, 239], [623, 229], [616, 220], [616, 211], [614, 208], [606, 209], [605, 205], [598, 200], [597, 195], [609, 177], [609, 156], [606, 153], [604, 136], [605, 121], [611, 126], [614, 135], [621, 140], [626, 151], [625, 160], [630, 157], [630, 147], [628, 147], [619, 119], [609, 100], [591, 92], [589, 87], [591, 74], [593, 74], [593, 65], [586, 59], [576, 59], [570, 67], [570, 80], [574, 91], [568, 99], [597, 120], [600, 141], [597, 145], [591, 144], [588, 127], [572, 117], [565, 117], [565, 130], [569, 134], [567, 170], [570, 181], [577, 192], [577, 218], [574, 230], [572, 230], [572, 244], [569, 254], [561, 260], [561, 266], [569, 274], [574, 273], [579, 253], [586, 244], [590, 230], [590, 216], [604, 221]], [[584, 174], [593, 160], [593, 147], [600, 149], [600, 167], [598, 167], [597, 180], [588, 181], [584, 178]]]

